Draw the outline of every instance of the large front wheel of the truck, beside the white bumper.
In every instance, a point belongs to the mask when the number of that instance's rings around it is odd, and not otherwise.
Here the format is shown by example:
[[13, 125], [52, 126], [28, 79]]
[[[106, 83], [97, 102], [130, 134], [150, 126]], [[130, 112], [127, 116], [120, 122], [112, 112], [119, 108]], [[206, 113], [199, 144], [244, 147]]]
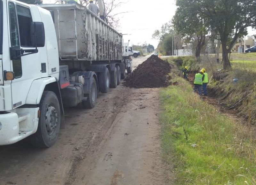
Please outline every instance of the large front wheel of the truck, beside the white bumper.
[[60, 131], [60, 104], [52, 91], [44, 91], [39, 104], [41, 115], [35, 134], [30, 136], [34, 147], [49, 148], [58, 139]]

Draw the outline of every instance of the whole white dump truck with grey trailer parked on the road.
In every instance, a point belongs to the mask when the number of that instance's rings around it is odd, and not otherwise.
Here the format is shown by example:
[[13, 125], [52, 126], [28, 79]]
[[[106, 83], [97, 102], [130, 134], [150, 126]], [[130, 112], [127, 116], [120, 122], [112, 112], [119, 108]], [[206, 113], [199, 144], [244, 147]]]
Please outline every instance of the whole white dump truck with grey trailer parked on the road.
[[64, 128], [64, 107], [93, 108], [99, 92], [131, 73], [128, 46], [99, 5], [100, 17], [65, 1], [0, 0], [0, 145], [29, 137], [51, 147]]

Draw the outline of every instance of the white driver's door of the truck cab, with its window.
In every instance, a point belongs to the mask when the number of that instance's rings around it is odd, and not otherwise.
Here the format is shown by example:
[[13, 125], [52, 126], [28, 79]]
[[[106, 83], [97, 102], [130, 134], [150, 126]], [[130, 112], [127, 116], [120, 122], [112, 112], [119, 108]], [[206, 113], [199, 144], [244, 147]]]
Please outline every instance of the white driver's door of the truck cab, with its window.
[[[12, 80], [12, 107], [25, 104], [32, 81], [40, 78], [41, 62], [38, 53], [20, 57], [22, 50], [35, 50], [32, 47], [30, 25], [32, 22], [29, 7], [9, 1], [9, 33]], [[4, 66], [3, 66], [4, 67]]]

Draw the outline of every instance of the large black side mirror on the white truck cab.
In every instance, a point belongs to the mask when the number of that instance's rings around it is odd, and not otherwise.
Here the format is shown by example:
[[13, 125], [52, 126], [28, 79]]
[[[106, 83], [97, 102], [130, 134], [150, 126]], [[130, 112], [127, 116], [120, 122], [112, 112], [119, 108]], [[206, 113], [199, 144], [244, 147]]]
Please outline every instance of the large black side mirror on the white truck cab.
[[44, 23], [31, 22], [30, 35], [33, 47], [44, 47]]

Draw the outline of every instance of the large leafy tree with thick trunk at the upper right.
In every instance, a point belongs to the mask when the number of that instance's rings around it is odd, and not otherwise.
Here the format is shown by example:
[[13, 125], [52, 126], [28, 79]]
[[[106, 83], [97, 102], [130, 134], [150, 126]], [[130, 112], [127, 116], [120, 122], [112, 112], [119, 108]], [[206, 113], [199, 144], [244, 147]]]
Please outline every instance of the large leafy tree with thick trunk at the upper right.
[[223, 68], [229, 69], [228, 53], [237, 38], [247, 35], [247, 27], [256, 27], [256, 0], [184, 0], [184, 4], [220, 35]]

